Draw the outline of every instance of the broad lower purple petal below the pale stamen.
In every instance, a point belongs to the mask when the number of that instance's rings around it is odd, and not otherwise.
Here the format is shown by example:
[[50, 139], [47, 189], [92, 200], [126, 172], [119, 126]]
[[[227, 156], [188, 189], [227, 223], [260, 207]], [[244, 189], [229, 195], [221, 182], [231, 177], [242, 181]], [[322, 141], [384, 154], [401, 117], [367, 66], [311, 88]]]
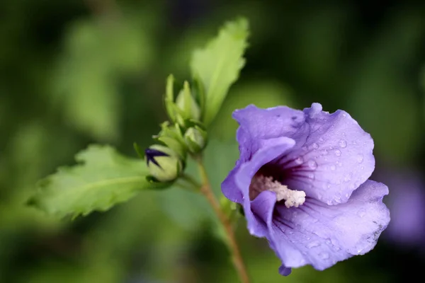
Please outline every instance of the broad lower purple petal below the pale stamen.
[[276, 204], [268, 240], [286, 267], [310, 264], [324, 270], [368, 253], [390, 221], [382, 203], [387, 193], [387, 186], [368, 180], [344, 204], [329, 206], [312, 198], [298, 208]]

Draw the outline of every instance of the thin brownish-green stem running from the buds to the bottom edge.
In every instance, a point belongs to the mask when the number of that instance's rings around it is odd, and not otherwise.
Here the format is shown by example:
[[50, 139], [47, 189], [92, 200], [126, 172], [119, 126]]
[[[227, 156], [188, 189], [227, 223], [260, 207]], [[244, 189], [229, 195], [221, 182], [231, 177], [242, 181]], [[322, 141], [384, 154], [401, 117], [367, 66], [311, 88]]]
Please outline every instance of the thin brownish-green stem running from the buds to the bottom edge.
[[217, 201], [217, 198], [211, 190], [210, 181], [208, 180], [208, 175], [205, 171], [205, 167], [203, 166], [202, 159], [198, 157], [196, 158], [196, 161], [198, 163], [200, 178], [202, 180], [200, 192], [202, 192], [203, 195], [205, 195], [205, 197], [207, 198], [208, 202], [210, 202], [212, 209], [214, 209], [215, 214], [217, 214], [218, 219], [220, 219], [222, 226], [225, 228], [225, 232], [229, 240], [228, 242], [230, 252], [232, 253], [233, 265], [237, 270], [239, 279], [242, 283], [249, 283], [248, 273], [246, 272], [244, 261], [242, 260], [241, 253], [239, 252], [239, 247], [237, 246], [232, 224], [230, 223], [229, 218], [226, 216], [226, 214], [222, 212], [222, 209], [220, 208], [220, 203]]

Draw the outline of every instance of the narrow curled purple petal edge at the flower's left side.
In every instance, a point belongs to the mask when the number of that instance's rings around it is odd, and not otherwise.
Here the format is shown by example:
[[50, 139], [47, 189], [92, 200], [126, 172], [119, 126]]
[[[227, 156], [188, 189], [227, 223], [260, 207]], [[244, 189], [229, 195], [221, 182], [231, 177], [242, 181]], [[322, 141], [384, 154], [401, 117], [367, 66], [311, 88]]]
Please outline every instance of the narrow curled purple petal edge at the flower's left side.
[[261, 146], [260, 149], [256, 151], [251, 160], [236, 166], [222, 183], [223, 194], [229, 200], [244, 205], [249, 232], [256, 236], [263, 235], [263, 231], [257, 230], [259, 227], [258, 219], [251, 212], [251, 200], [249, 200], [251, 180], [261, 166], [292, 149], [295, 146], [295, 141], [288, 137], [278, 137], [261, 140], [259, 145]]

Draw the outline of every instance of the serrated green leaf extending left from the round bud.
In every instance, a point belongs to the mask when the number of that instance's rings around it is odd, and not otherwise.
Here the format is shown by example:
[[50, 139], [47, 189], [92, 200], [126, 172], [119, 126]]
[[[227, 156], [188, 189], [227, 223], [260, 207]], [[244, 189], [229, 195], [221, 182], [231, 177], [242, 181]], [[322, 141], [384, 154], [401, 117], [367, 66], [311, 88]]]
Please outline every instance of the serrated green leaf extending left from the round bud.
[[47, 214], [76, 217], [106, 211], [140, 190], [168, 185], [149, 182], [144, 161], [118, 154], [111, 146], [91, 145], [76, 160], [77, 165], [40, 180], [28, 204]]

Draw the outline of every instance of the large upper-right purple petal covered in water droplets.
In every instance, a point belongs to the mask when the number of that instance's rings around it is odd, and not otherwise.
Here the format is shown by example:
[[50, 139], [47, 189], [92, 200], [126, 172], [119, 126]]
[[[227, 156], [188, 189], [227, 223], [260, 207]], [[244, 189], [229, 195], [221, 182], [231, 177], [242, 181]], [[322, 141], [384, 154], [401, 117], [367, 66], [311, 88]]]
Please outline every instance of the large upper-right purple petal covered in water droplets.
[[375, 168], [373, 139], [345, 111], [329, 114], [313, 103], [304, 112], [305, 145], [279, 161], [289, 172], [285, 185], [327, 204], [344, 203]]

